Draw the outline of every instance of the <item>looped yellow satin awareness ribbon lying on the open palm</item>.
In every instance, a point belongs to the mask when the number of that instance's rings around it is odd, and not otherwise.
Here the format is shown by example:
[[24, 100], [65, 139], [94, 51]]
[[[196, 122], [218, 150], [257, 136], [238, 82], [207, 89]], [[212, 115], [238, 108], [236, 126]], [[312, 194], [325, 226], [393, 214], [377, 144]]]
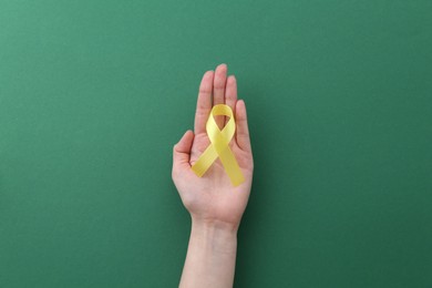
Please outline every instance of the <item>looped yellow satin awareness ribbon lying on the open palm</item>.
[[[216, 124], [214, 116], [223, 115], [228, 116], [229, 121], [225, 127], [220, 131]], [[245, 178], [243, 177], [240, 167], [229, 148], [229, 142], [236, 131], [236, 123], [234, 121], [233, 110], [225, 104], [215, 105], [212, 109], [210, 115], [206, 124], [207, 135], [212, 144], [199, 156], [198, 161], [192, 166], [192, 171], [198, 177], [202, 177], [212, 164], [219, 157], [229, 179], [234, 186], [241, 184]]]

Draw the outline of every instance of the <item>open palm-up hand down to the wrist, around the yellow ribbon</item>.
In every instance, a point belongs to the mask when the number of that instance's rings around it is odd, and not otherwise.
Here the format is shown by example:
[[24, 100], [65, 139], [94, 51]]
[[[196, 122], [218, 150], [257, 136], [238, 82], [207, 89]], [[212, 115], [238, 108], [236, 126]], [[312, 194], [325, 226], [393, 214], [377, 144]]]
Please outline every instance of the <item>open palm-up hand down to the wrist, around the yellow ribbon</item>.
[[[213, 92], [213, 103], [212, 103]], [[203, 177], [198, 177], [191, 166], [210, 144], [206, 133], [206, 122], [213, 105], [226, 104], [234, 112], [236, 133], [229, 143], [245, 182], [234, 187], [224, 166], [217, 158]], [[216, 116], [222, 130], [228, 117]], [[174, 146], [173, 181], [182, 202], [194, 223], [216, 225], [237, 230], [246, 208], [254, 172], [249, 131], [245, 102], [237, 101], [237, 82], [234, 75], [227, 78], [227, 65], [220, 64], [216, 71], [207, 71], [199, 85], [195, 114], [195, 133], [187, 131]]]

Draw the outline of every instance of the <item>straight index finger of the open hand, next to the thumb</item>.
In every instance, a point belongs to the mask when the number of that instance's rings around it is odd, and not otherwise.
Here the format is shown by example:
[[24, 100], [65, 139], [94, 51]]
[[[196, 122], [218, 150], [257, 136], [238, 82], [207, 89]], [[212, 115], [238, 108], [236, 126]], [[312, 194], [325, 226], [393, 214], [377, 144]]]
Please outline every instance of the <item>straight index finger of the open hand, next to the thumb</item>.
[[195, 112], [195, 135], [206, 132], [206, 122], [212, 110], [213, 71], [204, 73], [199, 84]]

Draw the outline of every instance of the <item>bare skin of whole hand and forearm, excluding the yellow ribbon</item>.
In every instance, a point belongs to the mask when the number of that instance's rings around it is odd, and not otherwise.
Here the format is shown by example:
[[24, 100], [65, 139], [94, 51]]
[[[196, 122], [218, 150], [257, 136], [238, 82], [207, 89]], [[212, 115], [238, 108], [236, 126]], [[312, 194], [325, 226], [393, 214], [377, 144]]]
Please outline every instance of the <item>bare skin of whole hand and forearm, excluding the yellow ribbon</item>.
[[[234, 112], [236, 134], [229, 146], [245, 176], [245, 182], [237, 187], [233, 187], [219, 160], [203, 177], [191, 169], [210, 144], [206, 122], [216, 104], [229, 105]], [[227, 120], [225, 116], [216, 117], [219, 128]], [[173, 151], [173, 181], [192, 219], [179, 287], [233, 287], [237, 230], [249, 198], [253, 172], [245, 102], [237, 100], [236, 78], [227, 76], [227, 65], [219, 64], [215, 71], [203, 75], [194, 132], [186, 131]]]

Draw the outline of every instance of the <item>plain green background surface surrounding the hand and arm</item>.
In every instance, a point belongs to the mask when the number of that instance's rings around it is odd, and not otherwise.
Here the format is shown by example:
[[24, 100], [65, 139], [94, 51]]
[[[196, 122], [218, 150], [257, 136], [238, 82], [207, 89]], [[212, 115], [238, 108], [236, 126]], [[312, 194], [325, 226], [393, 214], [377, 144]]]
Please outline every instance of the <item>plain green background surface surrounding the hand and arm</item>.
[[431, 1], [1, 1], [0, 287], [176, 287], [198, 84], [246, 101], [235, 287], [432, 287]]

